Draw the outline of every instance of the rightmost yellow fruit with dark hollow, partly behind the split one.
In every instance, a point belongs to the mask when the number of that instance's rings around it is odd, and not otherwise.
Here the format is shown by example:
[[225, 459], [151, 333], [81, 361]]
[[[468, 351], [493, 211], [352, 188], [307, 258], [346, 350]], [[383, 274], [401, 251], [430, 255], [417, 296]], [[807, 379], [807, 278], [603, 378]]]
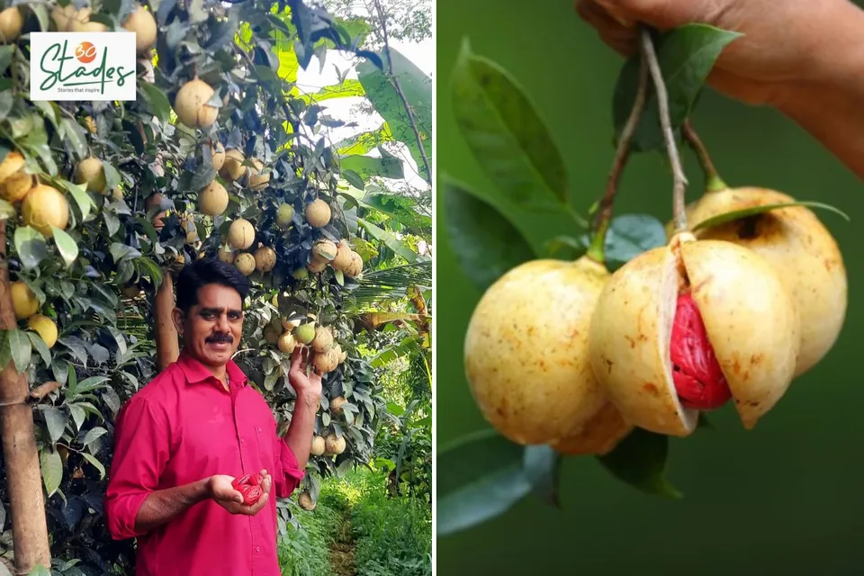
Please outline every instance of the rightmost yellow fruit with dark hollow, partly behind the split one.
[[[795, 202], [784, 193], [757, 187], [724, 188], [705, 193], [688, 207], [688, 224], [766, 204]], [[831, 232], [806, 206], [788, 206], [698, 229], [696, 238], [748, 247], [778, 273], [797, 303], [801, 351], [795, 377], [818, 364], [833, 347], [846, 318], [846, 268]]]

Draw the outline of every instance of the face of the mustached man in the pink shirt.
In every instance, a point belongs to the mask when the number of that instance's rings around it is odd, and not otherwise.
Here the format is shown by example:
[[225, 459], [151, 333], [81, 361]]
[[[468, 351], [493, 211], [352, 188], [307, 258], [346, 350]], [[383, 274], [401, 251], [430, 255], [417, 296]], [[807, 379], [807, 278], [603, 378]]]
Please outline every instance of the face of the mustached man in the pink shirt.
[[185, 318], [175, 312], [183, 325], [184, 347], [196, 360], [213, 367], [228, 364], [243, 331], [243, 302], [236, 290], [205, 284], [198, 289], [198, 303]]

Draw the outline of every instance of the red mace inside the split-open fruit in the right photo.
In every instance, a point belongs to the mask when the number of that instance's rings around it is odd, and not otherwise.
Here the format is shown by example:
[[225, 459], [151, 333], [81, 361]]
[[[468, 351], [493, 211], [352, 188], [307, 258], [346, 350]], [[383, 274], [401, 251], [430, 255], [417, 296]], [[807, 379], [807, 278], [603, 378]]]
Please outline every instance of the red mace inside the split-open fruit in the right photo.
[[708, 341], [705, 322], [689, 293], [678, 295], [669, 352], [672, 381], [681, 406], [716, 410], [732, 398], [729, 384]]

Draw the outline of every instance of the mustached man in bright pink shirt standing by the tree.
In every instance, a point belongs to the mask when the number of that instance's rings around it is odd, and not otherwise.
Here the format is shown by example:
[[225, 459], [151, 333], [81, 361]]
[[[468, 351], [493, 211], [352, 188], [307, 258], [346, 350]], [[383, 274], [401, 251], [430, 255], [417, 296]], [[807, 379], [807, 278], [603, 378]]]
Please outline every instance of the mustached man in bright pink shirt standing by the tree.
[[[266, 401], [231, 360], [249, 292], [237, 268], [215, 258], [177, 278], [177, 361], [117, 415], [105, 517], [114, 539], [138, 538], [137, 576], [279, 576], [276, 500], [300, 485], [321, 395], [308, 349], [292, 356], [297, 392], [284, 437]], [[254, 505], [231, 482], [261, 473]], [[275, 498], [274, 498], [275, 496]]]

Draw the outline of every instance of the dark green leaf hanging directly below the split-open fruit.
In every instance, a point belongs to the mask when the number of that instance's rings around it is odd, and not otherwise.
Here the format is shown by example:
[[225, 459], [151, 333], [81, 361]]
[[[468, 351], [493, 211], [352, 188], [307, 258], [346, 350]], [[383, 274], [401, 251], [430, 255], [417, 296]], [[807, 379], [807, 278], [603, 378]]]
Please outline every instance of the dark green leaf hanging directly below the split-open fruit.
[[683, 495], [666, 479], [669, 437], [634, 428], [600, 464], [617, 477], [647, 494], [680, 500]]

